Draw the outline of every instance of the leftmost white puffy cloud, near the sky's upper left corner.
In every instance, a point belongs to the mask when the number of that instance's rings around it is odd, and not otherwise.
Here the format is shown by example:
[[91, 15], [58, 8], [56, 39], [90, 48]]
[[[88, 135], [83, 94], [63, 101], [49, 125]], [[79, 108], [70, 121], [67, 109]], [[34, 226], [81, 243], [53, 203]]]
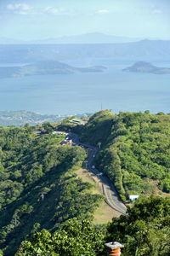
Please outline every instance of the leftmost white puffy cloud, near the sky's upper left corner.
[[7, 5], [7, 9], [18, 15], [27, 15], [32, 11], [32, 7], [26, 3], [10, 3]]

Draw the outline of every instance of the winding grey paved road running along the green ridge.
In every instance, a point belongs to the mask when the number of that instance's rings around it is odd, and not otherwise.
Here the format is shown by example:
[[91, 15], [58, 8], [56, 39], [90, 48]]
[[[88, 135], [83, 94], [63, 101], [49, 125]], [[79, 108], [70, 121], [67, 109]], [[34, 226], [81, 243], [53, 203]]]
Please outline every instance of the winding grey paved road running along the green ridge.
[[102, 175], [101, 172], [99, 172], [95, 166], [94, 166], [94, 158], [96, 154], [99, 151], [99, 148], [94, 147], [88, 143], [80, 143], [79, 138], [77, 134], [70, 133], [70, 137], [73, 141], [73, 143], [79, 144], [80, 146], [87, 148], [88, 150], [88, 159], [85, 161], [85, 167], [88, 170], [88, 172], [93, 172], [94, 175], [98, 176], [102, 186], [103, 186], [103, 191], [105, 194], [106, 202], [108, 205], [116, 210], [117, 212], [121, 212], [122, 214], [126, 214], [127, 212], [127, 207], [122, 203], [120, 200], [115, 187], [111, 183], [110, 179], [105, 176], [103, 173]]

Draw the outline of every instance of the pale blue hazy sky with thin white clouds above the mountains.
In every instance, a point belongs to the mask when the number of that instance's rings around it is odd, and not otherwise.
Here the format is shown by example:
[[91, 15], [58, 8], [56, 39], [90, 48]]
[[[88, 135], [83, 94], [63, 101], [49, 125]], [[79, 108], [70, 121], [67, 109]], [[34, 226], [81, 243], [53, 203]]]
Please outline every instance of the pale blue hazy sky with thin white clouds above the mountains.
[[170, 0], [0, 0], [0, 38], [89, 32], [170, 39]]

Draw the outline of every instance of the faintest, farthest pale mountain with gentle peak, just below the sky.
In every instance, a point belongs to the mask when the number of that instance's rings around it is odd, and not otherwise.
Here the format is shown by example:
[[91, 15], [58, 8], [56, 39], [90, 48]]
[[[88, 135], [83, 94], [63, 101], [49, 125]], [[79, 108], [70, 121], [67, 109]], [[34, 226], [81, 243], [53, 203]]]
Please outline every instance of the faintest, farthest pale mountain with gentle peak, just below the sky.
[[113, 44], [136, 42], [141, 38], [127, 38], [106, 35], [103, 33], [88, 33], [77, 36], [46, 38], [41, 40], [16, 40], [13, 38], [0, 38], [0, 44]]

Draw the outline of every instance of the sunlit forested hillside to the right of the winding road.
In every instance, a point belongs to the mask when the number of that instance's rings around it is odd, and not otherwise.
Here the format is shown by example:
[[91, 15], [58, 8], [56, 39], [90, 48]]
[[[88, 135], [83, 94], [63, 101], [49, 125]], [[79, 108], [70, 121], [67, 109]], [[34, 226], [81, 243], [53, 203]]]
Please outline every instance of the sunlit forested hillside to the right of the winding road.
[[96, 166], [111, 178], [119, 195], [170, 192], [170, 115], [95, 113], [79, 131], [82, 141], [100, 148]]

